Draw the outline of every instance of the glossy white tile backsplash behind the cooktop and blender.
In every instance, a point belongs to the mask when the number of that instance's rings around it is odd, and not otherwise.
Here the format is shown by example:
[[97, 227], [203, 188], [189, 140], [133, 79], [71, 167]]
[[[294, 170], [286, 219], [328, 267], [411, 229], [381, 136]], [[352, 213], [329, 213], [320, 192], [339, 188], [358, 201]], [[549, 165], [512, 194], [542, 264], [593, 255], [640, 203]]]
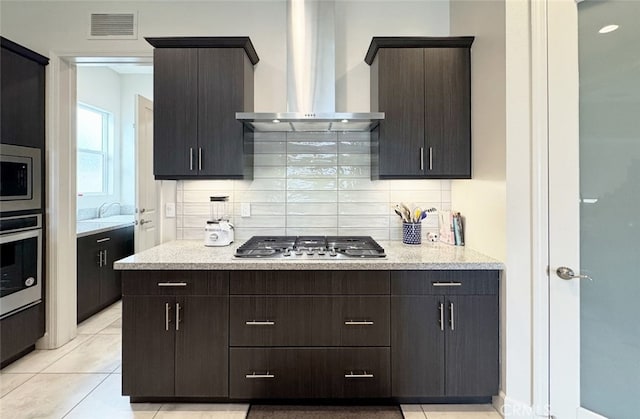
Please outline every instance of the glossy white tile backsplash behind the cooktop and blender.
[[[178, 239], [203, 238], [212, 195], [229, 196], [236, 244], [284, 234], [401, 240], [392, 205], [451, 208], [449, 180], [371, 181], [368, 133], [256, 133], [254, 141], [252, 181], [178, 182]], [[250, 204], [250, 217], [240, 216], [242, 203]], [[435, 215], [422, 231], [438, 231]]]

